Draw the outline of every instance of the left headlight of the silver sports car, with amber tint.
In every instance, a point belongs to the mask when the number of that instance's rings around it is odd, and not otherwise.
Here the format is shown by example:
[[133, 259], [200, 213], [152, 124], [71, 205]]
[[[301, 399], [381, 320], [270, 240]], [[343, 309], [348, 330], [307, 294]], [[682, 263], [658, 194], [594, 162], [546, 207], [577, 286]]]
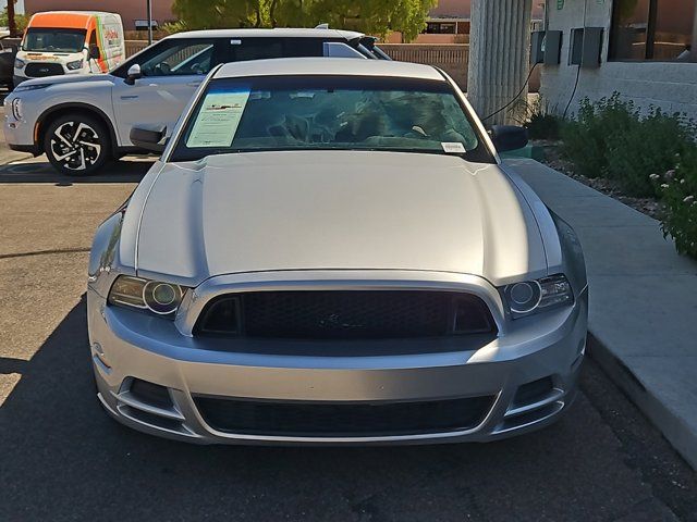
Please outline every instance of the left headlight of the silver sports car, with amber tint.
[[109, 303], [147, 310], [158, 315], [172, 315], [182, 303], [179, 285], [120, 275], [109, 290]]

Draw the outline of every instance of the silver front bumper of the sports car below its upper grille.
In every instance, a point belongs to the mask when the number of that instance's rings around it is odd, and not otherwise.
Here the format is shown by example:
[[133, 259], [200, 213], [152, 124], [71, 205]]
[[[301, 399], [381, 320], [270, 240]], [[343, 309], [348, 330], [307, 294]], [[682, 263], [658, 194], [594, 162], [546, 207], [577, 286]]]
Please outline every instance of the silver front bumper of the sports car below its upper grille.
[[[231, 351], [224, 340], [193, 338], [170, 321], [108, 307], [94, 289], [88, 290], [88, 318], [99, 399], [112, 417], [136, 430], [201, 444], [486, 442], [542, 427], [573, 401], [587, 295], [577, 296], [572, 308], [516, 320], [505, 335], [476, 350], [432, 349], [431, 341], [418, 340], [409, 349], [395, 344], [394, 350], [367, 355], [326, 356], [302, 343], [293, 344], [290, 355], [269, 341]], [[132, 394], [134, 378], [166, 387], [171, 403]], [[522, 402], [522, 386], [540, 380], [552, 386]], [[391, 405], [485, 396], [492, 397], [491, 406], [466, 428], [345, 436], [222, 431], [207, 422], [195, 401]]]

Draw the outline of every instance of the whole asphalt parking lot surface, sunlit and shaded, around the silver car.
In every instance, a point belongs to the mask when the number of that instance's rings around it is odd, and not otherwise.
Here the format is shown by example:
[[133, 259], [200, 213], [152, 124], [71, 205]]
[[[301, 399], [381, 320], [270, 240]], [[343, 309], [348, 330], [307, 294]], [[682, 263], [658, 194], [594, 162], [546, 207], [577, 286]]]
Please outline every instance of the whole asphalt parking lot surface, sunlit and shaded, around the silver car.
[[95, 227], [151, 160], [93, 178], [0, 166], [0, 520], [697, 521], [697, 480], [590, 361], [555, 425], [487, 445], [199, 447], [94, 395]]

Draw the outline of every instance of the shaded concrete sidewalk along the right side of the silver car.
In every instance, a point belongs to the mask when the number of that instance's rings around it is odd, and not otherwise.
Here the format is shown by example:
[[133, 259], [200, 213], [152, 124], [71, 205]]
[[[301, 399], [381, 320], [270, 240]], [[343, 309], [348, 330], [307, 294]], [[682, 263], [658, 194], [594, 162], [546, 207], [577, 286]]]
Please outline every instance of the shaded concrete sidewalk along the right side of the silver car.
[[697, 262], [658, 221], [536, 161], [506, 164], [578, 234], [590, 355], [697, 469]]

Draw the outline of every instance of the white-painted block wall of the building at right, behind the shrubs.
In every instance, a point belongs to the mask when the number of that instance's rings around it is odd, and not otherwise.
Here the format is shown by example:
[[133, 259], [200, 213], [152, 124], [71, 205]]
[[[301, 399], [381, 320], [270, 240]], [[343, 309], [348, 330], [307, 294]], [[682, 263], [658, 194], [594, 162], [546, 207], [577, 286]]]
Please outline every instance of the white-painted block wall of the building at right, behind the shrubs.
[[568, 112], [575, 113], [584, 97], [596, 100], [617, 91], [643, 110], [653, 105], [697, 119], [697, 63], [607, 61], [612, 0], [565, 0], [561, 10], [557, 9], [557, 0], [548, 0], [548, 28], [563, 30], [563, 37], [561, 63], [538, 65], [542, 70], [540, 96], [543, 103], [562, 113], [572, 96], [578, 66], [567, 64], [571, 29], [584, 26], [584, 1], [585, 25], [604, 27], [601, 65], [580, 70]]

